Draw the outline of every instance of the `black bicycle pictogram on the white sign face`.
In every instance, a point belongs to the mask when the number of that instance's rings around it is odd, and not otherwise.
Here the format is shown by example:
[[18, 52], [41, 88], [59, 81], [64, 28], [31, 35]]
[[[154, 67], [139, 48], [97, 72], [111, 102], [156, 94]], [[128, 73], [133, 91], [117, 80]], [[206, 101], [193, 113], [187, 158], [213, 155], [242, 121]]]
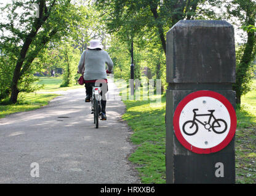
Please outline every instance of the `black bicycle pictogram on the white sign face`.
[[[204, 128], [207, 129], [208, 131], [211, 131], [210, 129], [212, 129], [216, 134], [223, 134], [226, 131], [228, 127], [226, 121], [224, 121], [223, 119], [216, 119], [213, 114], [215, 110], [208, 110], [210, 113], [202, 115], [196, 114], [196, 111], [198, 111], [198, 109], [193, 110], [193, 120], [186, 121], [182, 126], [182, 130], [186, 135], [196, 134], [198, 132], [198, 123], [202, 124]], [[200, 121], [198, 118], [196, 118], [197, 116], [209, 116], [208, 122]], [[212, 118], [214, 119], [214, 121], [212, 122], [212, 124], [210, 124]], [[196, 121], [198, 121], [198, 123], [196, 123]]]

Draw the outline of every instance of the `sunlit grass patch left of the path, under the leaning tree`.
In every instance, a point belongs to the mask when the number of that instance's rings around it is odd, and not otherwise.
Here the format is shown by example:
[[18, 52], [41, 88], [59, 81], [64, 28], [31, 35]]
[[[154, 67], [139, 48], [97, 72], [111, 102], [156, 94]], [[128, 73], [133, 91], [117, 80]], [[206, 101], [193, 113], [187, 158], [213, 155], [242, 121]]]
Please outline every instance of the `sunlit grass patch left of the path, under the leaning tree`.
[[20, 94], [23, 98], [19, 98], [16, 104], [0, 105], [0, 118], [6, 115], [20, 111], [30, 111], [47, 105], [54, 97], [60, 96], [58, 94], [35, 94], [25, 93]]

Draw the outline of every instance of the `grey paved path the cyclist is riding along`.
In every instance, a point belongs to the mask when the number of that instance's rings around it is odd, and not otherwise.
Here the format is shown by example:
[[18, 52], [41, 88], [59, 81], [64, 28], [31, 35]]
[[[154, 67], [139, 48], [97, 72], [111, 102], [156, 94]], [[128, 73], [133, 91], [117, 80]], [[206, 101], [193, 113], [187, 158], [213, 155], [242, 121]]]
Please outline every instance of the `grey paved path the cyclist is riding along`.
[[[107, 121], [95, 129], [85, 89], [63, 91], [49, 105], [0, 119], [0, 183], [140, 183], [127, 156], [132, 134], [109, 80]], [[53, 92], [51, 92], [53, 93]], [[62, 93], [62, 92], [58, 92]], [[31, 177], [31, 163], [39, 177]]]

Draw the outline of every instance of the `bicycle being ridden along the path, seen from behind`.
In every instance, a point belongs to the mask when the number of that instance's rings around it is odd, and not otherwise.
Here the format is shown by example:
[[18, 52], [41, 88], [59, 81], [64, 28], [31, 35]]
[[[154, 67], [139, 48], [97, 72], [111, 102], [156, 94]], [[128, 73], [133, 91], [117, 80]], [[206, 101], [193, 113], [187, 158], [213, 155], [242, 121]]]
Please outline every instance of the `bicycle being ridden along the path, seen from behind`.
[[101, 107], [100, 107], [100, 100], [102, 99], [102, 96], [100, 93], [102, 92], [102, 89], [100, 87], [92, 86], [92, 97], [91, 97], [91, 108], [92, 113], [94, 114], [94, 124], [96, 129], [98, 129], [98, 118], [100, 118], [101, 115]]

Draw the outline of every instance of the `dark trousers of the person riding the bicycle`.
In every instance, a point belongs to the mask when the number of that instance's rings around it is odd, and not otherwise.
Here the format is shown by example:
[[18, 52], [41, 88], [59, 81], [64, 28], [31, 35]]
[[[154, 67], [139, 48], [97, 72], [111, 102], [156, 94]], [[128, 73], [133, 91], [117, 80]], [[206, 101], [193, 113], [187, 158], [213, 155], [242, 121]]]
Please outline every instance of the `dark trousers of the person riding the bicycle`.
[[102, 88], [101, 96], [102, 100], [100, 101], [102, 105], [102, 113], [106, 114], [106, 92], [108, 92], [108, 84], [107, 83], [86, 83], [86, 96], [92, 97], [92, 87], [93, 86], [100, 86]]

